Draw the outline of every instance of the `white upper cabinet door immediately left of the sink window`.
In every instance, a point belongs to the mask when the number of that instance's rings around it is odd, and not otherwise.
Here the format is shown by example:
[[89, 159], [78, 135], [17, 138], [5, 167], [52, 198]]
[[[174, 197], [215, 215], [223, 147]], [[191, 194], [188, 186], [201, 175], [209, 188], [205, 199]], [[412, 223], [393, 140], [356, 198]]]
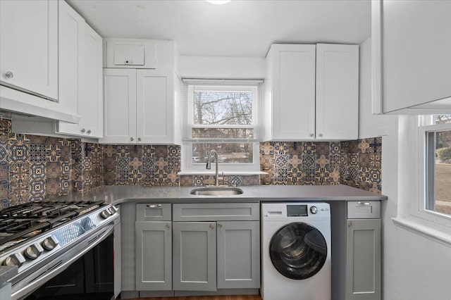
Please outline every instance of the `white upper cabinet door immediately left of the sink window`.
[[137, 142], [172, 144], [174, 141], [173, 75], [137, 70]]

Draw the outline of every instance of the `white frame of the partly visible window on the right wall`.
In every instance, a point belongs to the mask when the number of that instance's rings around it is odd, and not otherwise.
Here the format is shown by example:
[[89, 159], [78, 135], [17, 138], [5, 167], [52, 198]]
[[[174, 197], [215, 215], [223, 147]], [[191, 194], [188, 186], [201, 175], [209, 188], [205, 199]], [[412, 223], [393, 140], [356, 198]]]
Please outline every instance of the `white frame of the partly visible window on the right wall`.
[[438, 132], [443, 130], [451, 130], [451, 124], [432, 124], [432, 115], [422, 115], [419, 117], [419, 124], [416, 136], [417, 147], [417, 163], [418, 170], [416, 174], [416, 182], [418, 182], [418, 192], [414, 205], [411, 206], [410, 214], [426, 221], [425, 224], [435, 227], [437, 229], [450, 229], [451, 228], [451, 215], [439, 213], [436, 211], [430, 211], [426, 209], [428, 201], [428, 152], [426, 146], [428, 146], [427, 133]]

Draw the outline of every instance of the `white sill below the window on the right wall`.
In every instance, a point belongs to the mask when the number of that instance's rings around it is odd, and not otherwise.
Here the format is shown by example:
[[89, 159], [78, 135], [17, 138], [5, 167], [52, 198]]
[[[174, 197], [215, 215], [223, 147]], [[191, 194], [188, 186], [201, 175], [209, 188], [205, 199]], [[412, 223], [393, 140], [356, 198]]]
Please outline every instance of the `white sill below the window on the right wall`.
[[431, 227], [427, 221], [417, 220], [416, 218], [392, 218], [393, 223], [398, 227], [409, 230], [428, 239], [451, 247], [451, 235], [444, 230]]

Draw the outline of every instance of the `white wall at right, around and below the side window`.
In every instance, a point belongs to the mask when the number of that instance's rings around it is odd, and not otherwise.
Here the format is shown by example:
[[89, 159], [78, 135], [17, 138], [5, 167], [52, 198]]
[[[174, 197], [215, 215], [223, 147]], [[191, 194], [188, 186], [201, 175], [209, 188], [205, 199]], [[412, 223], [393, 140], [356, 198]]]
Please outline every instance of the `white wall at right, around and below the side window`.
[[359, 137], [382, 138], [383, 299], [451, 299], [451, 248], [394, 225], [412, 201], [412, 125], [408, 118], [371, 115], [371, 42], [361, 45]]

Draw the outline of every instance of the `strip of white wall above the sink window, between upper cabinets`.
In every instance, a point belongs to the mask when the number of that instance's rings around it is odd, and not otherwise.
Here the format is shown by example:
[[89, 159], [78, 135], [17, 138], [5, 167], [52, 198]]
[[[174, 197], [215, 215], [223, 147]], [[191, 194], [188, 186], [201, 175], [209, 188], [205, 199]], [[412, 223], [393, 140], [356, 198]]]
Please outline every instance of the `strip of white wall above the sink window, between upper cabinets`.
[[178, 74], [183, 78], [260, 79], [265, 77], [265, 59], [180, 56]]

